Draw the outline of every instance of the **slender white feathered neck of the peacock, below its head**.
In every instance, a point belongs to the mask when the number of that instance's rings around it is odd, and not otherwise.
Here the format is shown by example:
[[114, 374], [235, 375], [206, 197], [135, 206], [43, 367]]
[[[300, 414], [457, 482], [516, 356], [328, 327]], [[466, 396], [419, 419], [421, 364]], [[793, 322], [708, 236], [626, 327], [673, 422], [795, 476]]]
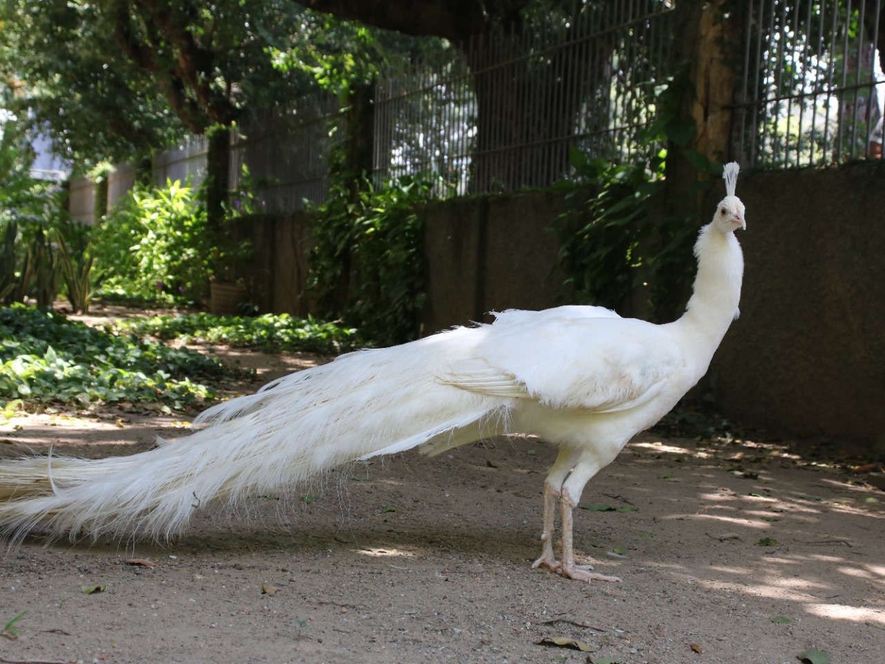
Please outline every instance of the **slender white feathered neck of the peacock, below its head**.
[[[701, 229], [695, 244], [697, 274], [689, 305], [676, 325], [699, 359], [709, 363], [722, 337], [737, 318], [743, 279], [743, 253], [734, 233], [713, 224]], [[704, 371], [706, 367], [704, 366]]]

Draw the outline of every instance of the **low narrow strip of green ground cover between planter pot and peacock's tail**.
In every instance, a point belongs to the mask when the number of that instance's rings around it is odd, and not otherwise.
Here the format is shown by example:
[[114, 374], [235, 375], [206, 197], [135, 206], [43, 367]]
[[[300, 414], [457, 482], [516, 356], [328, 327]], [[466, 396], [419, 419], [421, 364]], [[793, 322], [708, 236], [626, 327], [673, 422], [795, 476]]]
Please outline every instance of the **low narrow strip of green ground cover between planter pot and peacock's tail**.
[[116, 328], [137, 336], [177, 339], [231, 346], [249, 346], [262, 351], [316, 351], [338, 353], [358, 344], [356, 330], [288, 313], [266, 313], [258, 318], [215, 316], [211, 313], [162, 315], [120, 320]]

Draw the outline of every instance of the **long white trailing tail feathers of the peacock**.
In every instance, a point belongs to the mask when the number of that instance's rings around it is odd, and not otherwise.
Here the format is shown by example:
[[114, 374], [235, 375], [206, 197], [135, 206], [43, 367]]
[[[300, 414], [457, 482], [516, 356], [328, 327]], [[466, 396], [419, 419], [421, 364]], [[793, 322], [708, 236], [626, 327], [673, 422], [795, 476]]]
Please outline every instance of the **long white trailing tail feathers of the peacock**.
[[[350, 461], [469, 430], [500, 403], [435, 380], [464, 330], [289, 375], [213, 407], [196, 433], [149, 452], [0, 461], [0, 534], [16, 539], [40, 526], [72, 538], [167, 538], [212, 500], [235, 506]], [[438, 405], [429, 416], [428, 403]]]

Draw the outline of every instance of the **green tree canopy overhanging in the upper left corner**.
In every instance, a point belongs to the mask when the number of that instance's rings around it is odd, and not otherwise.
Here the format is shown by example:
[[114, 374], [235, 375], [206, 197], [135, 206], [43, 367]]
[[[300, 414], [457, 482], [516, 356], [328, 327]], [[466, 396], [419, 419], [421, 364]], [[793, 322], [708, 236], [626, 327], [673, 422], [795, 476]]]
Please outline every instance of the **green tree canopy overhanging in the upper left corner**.
[[[346, 92], [398, 33], [290, 0], [4, 0], [0, 71], [66, 158], [132, 160], [184, 132], [229, 127], [317, 87]], [[346, 17], [345, 17], [346, 18]]]

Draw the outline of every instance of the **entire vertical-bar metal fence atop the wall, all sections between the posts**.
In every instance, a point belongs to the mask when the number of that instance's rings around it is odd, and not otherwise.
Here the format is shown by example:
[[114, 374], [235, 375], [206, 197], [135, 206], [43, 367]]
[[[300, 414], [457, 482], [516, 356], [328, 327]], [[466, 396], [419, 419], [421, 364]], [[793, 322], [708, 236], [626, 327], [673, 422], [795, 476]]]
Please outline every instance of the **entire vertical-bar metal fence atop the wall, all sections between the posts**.
[[[866, 154], [885, 96], [881, 2], [747, 0], [728, 158], [789, 167]], [[662, 146], [637, 136], [673, 74], [672, 10], [669, 0], [576, 2], [518, 34], [486, 35], [386, 73], [373, 99], [373, 177], [419, 176], [436, 197], [451, 197], [550, 186], [569, 173], [571, 147], [614, 162], [650, 158]], [[240, 127], [234, 201], [247, 189], [265, 211], [322, 200], [343, 122], [337, 99], [321, 95]], [[158, 156], [155, 181], [199, 184], [205, 152], [196, 137]]]

